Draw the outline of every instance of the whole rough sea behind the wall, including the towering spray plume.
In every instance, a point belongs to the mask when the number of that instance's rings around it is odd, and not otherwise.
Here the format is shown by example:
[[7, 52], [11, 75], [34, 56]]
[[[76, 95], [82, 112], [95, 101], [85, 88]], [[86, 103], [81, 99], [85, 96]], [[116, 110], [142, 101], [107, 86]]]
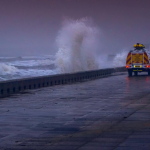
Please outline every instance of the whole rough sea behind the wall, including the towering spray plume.
[[124, 66], [127, 52], [112, 63], [100, 54], [99, 36], [90, 19], [67, 20], [58, 32], [55, 55], [0, 57], [0, 81]]

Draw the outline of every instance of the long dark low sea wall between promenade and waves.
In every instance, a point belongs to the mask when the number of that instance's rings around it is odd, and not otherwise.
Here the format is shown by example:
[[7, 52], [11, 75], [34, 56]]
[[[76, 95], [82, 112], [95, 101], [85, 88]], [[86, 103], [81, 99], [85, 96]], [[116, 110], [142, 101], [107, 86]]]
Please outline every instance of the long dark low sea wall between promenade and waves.
[[63, 85], [86, 80], [97, 79], [115, 72], [127, 71], [125, 67], [108, 68], [85, 72], [40, 76], [0, 82], [0, 97], [7, 97], [21, 91], [37, 89], [53, 85]]

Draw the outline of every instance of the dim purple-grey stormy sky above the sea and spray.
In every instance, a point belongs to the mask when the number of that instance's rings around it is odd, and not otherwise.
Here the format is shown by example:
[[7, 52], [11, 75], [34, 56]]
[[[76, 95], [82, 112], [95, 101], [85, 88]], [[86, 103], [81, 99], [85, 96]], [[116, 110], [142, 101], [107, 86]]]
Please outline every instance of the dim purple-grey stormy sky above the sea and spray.
[[63, 20], [83, 17], [98, 26], [107, 53], [150, 44], [149, 0], [0, 0], [0, 55], [55, 54]]

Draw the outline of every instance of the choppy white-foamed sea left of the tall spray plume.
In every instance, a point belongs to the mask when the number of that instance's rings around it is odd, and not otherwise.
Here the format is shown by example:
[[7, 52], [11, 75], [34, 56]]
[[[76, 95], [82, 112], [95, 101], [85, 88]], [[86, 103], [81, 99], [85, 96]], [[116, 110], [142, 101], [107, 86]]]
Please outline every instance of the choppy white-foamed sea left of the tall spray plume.
[[0, 81], [57, 74], [55, 56], [0, 57]]

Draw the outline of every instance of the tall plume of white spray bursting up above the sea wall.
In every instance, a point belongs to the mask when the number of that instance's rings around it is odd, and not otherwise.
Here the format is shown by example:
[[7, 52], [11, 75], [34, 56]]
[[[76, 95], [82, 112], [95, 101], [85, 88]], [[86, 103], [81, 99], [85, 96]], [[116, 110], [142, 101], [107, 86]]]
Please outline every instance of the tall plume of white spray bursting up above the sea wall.
[[99, 30], [90, 19], [67, 20], [59, 31], [56, 43], [56, 66], [61, 73], [94, 70]]

